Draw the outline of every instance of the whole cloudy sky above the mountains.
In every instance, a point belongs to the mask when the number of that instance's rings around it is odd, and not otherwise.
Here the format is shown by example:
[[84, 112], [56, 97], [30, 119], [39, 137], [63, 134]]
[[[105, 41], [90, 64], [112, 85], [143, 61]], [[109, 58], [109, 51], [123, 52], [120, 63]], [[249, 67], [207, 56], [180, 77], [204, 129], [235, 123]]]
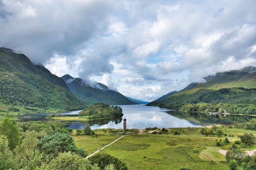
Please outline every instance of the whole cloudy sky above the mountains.
[[255, 0], [0, 0], [0, 46], [153, 101], [256, 66]]

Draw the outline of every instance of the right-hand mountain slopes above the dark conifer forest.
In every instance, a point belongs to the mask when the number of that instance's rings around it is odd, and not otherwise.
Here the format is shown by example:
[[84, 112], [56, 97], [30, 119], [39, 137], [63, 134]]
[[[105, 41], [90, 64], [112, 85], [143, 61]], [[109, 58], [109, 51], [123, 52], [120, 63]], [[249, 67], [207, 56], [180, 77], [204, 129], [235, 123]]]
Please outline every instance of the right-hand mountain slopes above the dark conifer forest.
[[168, 107], [174, 103], [193, 103], [203, 95], [213, 93], [220, 89], [231, 89], [233, 92], [241, 92], [242, 88], [256, 88], [256, 67], [248, 66], [240, 70], [217, 72], [204, 78], [205, 83], [191, 83], [180, 91], [170, 92], [150, 103], [147, 106]]

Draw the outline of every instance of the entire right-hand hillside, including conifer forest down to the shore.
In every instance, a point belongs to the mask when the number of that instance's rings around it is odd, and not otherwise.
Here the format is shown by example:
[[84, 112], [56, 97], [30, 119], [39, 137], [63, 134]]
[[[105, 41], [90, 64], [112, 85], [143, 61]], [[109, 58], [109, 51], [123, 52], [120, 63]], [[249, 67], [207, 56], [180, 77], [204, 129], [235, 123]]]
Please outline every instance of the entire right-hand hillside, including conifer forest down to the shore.
[[216, 73], [206, 77], [206, 83], [196, 84], [193, 88], [179, 91], [164, 100], [155, 100], [148, 106], [182, 108], [190, 112], [256, 114], [255, 70], [256, 67], [249, 66], [241, 70]]

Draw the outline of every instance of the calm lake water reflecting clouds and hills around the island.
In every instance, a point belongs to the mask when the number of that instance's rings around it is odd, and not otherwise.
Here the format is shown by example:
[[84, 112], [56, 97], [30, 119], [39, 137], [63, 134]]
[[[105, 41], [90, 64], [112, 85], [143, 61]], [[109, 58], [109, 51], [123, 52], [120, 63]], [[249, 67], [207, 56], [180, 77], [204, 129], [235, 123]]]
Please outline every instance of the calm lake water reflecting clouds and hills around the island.
[[[249, 116], [233, 116], [224, 117], [209, 116], [206, 114], [186, 113], [175, 110], [161, 109], [152, 106], [143, 105], [122, 105], [123, 118], [114, 118], [107, 120], [98, 120], [91, 122], [80, 121], [60, 121], [49, 120], [45, 117], [51, 113], [44, 114], [26, 114], [19, 116], [20, 121], [41, 121], [41, 122], [60, 122], [65, 127], [73, 129], [83, 129], [89, 123], [92, 129], [98, 128], [123, 128], [123, 119], [127, 119], [127, 128], [143, 129], [147, 127], [157, 128], [182, 128], [182, 127], [201, 127], [210, 126], [214, 123], [222, 125], [230, 125], [234, 123], [244, 123], [252, 117]], [[62, 113], [66, 116], [77, 116], [80, 111]]]

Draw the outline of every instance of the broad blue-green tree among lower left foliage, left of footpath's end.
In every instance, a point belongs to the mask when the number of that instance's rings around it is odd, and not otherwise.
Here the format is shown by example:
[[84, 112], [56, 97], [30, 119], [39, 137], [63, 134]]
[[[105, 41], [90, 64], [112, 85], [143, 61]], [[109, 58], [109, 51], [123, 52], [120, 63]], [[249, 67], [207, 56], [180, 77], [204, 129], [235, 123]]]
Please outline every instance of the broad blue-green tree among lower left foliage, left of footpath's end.
[[75, 152], [83, 157], [87, 156], [85, 150], [77, 149], [74, 139], [67, 133], [55, 132], [52, 135], [46, 135], [36, 145], [40, 151], [49, 155], [53, 154], [55, 157], [58, 153], [68, 151]]

